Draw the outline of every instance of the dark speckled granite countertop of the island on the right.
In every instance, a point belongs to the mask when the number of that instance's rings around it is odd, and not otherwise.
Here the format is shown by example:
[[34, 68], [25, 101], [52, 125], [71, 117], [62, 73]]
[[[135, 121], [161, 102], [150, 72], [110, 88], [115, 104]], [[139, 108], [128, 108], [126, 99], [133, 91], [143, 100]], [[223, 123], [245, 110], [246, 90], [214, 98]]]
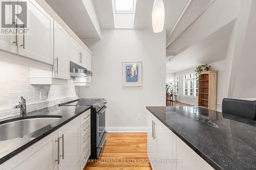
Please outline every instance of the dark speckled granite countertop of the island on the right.
[[256, 122], [200, 107], [146, 107], [215, 169], [256, 169]]

